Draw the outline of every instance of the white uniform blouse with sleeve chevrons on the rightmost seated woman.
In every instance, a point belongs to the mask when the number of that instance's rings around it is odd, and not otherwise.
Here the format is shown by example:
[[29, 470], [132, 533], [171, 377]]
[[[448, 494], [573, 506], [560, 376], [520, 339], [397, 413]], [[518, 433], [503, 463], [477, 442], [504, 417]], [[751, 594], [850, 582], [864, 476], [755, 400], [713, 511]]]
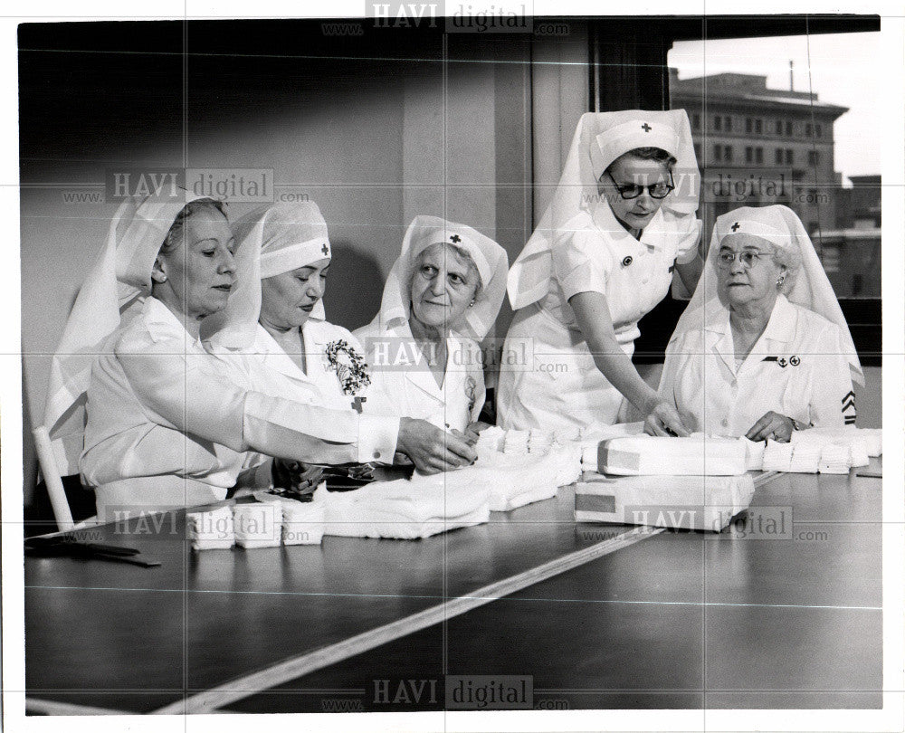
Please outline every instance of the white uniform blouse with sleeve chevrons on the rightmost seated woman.
[[780, 295], [764, 333], [737, 365], [729, 310], [710, 311], [702, 330], [670, 344], [663, 365], [661, 394], [689, 430], [744, 435], [770, 410], [805, 425], [854, 424], [852, 377], [834, 323]]

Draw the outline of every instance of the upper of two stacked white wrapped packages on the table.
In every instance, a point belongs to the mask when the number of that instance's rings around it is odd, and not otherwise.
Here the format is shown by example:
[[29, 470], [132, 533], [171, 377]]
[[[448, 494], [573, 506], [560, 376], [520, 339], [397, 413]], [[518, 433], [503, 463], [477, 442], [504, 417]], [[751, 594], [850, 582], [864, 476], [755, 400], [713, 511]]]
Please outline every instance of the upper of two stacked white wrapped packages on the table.
[[597, 471], [619, 476], [736, 476], [746, 471], [746, 451], [735, 438], [613, 438], [598, 446]]

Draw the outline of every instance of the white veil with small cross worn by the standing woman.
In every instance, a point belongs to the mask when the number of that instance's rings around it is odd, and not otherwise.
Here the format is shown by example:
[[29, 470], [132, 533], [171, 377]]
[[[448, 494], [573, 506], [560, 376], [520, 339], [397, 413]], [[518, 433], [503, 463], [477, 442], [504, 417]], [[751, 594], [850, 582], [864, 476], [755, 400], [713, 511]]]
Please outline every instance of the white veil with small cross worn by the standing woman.
[[676, 158], [676, 189], [662, 207], [679, 216], [698, 209], [700, 171], [684, 109], [587, 112], [578, 120], [562, 176], [547, 210], [509, 274], [512, 309], [547, 295], [553, 276], [551, 250], [576, 228], [576, 216], [607, 205], [597, 179], [617, 157], [633, 148], [662, 148]]

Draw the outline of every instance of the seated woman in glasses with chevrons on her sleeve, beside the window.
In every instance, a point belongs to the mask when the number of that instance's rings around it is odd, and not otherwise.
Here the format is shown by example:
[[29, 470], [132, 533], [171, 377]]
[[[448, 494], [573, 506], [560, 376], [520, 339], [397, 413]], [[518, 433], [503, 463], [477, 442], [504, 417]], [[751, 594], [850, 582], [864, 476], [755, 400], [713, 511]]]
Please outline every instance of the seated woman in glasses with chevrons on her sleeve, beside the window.
[[660, 390], [689, 429], [788, 441], [854, 424], [861, 365], [795, 213], [744, 206], [714, 224], [707, 263], [666, 351]]

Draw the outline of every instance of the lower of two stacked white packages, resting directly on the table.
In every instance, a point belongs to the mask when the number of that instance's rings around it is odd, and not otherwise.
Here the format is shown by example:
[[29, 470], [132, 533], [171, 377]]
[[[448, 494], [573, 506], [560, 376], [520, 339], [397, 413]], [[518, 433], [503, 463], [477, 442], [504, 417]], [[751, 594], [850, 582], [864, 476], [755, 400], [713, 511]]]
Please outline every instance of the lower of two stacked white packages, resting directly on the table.
[[741, 476], [624, 476], [586, 473], [576, 484], [575, 519], [719, 532], [748, 509], [754, 480]]

